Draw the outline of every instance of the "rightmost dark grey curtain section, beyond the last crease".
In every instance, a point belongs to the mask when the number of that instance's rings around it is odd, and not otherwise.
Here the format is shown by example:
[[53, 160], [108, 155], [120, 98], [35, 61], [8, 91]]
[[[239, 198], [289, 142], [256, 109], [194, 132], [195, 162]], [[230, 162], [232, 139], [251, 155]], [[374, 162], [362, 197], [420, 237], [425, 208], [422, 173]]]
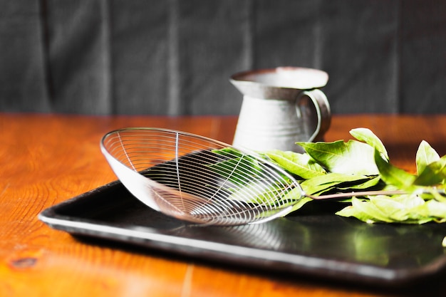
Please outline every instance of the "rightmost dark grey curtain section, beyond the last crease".
[[401, 2], [400, 112], [446, 113], [446, 1]]

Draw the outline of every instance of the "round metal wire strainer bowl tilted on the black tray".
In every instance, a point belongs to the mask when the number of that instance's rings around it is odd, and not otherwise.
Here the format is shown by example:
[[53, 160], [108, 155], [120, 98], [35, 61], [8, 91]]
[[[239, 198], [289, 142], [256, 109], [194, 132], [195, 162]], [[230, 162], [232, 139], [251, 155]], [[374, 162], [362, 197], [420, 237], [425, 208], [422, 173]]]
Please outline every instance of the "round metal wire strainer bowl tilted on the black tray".
[[100, 146], [135, 197], [177, 219], [218, 225], [264, 222], [297, 202], [286, 198], [300, 189], [287, 172], [254, 152], [207, 137], [136, 127], [109, 132]]

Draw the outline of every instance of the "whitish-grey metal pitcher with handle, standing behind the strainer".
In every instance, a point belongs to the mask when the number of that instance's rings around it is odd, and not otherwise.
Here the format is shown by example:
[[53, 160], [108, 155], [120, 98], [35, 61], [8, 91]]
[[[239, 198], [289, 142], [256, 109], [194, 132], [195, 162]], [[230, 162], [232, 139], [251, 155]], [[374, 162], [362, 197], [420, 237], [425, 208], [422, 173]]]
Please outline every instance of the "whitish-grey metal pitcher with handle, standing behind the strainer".
[[328, 82], [326, 72], [280, 67], [236, 73], [229, 81], [244, 95], [233, 145], [301, 152], [295, 142], [323, 140], [331, 122], [319, 89]]

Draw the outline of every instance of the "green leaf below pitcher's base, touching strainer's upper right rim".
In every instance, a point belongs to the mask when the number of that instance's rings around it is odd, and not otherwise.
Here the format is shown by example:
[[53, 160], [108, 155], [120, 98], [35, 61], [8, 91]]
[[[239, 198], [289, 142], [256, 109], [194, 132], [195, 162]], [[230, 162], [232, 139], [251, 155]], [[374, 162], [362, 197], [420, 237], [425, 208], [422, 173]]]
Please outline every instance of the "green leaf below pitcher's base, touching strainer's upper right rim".
[[284, 170], [296, 174], [303, 179], [310, 179], [312, 177], [326, 174], [323, 167], [308, 154], [283, 152], [281, 150], [270, 150], [264, 154]]

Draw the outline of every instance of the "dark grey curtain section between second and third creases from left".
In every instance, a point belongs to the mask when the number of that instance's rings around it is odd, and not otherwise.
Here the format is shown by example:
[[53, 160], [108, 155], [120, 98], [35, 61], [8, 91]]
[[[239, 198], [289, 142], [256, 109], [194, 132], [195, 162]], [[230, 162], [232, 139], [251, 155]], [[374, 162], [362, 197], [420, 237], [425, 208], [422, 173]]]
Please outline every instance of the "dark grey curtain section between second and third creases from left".
[[114, 113], [168, 112], [169, 7], [169, 1], [110, 1]]

